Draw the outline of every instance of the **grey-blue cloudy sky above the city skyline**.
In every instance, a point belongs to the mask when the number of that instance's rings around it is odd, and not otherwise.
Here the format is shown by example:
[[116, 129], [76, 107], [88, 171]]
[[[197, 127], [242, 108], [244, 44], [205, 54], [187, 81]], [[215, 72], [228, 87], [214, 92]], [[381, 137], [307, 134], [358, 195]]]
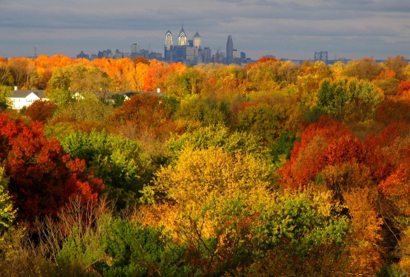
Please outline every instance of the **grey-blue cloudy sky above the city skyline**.
[[247, 57], [410, 58], [409, 0], [0, 0], [0, 56], [75, 57], [131, 44], [162, 53], [181, 23], [189, 39]]

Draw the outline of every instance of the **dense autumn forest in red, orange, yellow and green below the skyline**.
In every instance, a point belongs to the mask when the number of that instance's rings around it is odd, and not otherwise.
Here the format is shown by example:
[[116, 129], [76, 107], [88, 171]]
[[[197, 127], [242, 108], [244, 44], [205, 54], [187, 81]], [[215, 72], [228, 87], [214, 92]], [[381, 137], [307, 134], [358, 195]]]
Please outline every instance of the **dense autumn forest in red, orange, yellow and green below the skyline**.
[[410, 275], [402, 56], [0, 57], [0, 109], [1, 276]]

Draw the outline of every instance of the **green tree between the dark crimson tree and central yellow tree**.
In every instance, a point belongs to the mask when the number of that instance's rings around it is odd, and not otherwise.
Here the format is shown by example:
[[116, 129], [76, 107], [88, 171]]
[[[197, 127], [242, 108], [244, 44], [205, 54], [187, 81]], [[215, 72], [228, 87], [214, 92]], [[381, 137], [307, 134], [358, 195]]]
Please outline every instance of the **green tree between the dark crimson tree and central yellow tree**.
[[89, 170], [103, 179], [106, 192], [119, 206], [134, 202], [151, 178], [148, 159], [138, 142], [105, 132], [73, 131], [60, 143], [72, 157], [86, 160]]

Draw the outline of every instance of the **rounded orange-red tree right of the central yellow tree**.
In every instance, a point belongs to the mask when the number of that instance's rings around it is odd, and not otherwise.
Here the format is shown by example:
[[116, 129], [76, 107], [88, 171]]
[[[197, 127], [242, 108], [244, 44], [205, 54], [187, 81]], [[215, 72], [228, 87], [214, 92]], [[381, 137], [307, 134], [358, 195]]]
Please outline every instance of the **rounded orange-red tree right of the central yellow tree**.
[[278, 172], [285, 187], [303, 188], [328, 165], [364, 160], [362, 143], [352, 132], [333, 119], [321, 116], [301, 134], [291, 159]]

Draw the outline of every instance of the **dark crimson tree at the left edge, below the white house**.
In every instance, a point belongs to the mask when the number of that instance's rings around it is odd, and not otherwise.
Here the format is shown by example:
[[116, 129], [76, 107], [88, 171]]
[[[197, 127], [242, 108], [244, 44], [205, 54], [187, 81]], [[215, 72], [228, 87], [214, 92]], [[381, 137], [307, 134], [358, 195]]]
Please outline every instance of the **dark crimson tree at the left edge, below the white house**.
[[41, 122], [27, 125], [0, 114], [0, 145], [19, 219], [55, 215], [70, 197], [96, 199], [104, 189], [100, 179], [84, 172], [85, 161], [71, 160], [57, 140], [47, 140]]

